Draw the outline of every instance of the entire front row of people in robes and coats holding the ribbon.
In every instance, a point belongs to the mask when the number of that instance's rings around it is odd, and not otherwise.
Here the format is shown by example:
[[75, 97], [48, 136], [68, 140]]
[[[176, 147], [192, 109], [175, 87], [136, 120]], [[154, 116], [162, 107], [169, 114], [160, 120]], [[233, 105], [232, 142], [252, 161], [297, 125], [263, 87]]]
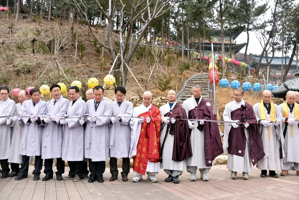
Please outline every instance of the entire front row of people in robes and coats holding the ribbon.
[[[0, 87], [1, 179], [27, 178], [34, 156], [35, 181], [40, 179], [43, 160], [42, 180], [53, 179], [56, 159], [56, 180], [76, 182], [89, 175], [89, 183], [103, 183], [109, 158], [109, 181], [118, 179], [117, 158], [123, 161], [124, 182], [128, 181], [130, 158], [133, 182], [143, 181], [145, 174], [150, 182], [157, 182], [160, 168], [168, 175], [165, 182], [180, 183], [184, 170], [190, 173], [190, 181], [196, 181], [197, 169], [200, 179], [209, 181], [214, 159], [223, 153], [228, 153], [227, 168], [233, 180], [237, 172], [248, 180], [255, 164], [261, 177], [269, 170], [269, 176], [277, 178], [278, 170], [281, 176], [289, 175], [293, 162], [299, 176], [299, 95], [294, 91], [278, 106], [271, 102], [271, 91], [264, 90], [262, 101], [252, 107], [243, 99], [244, 90], [236, 89], [223, 113], [223, 144], [213, 108], [202, 97], [199, 84], [182, 105], [176, 102], [176, 92], [169, 90], [167, 103], [159, 109], [152, 105], [150, 91], [144, 92], [142, 104], [133, 108], [121, 86], [115, 89], [114, 101], [104, 97], [102, 86], [86, 92], [87, 102], [77, 86], [68, 88], [70, 101], [63, 98], [57, 84], [50, 87], [50, 93], [52, 99], [45, 102], [38, 89], [30, 90], [30, 98], [22, 90], [15, 104], [8, 97], [9, 89]], [[65, 161], [69, 173], [62, 177]]]

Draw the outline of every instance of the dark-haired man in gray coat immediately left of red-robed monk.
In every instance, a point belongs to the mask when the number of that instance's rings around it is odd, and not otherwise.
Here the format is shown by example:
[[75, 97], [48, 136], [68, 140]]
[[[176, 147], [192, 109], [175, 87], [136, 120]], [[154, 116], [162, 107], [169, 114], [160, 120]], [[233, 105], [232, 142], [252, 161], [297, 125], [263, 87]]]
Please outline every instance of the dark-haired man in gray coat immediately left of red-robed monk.
[[131, 128], [130, 120], [133, 114], [133, 104], [126, 100], [126, 89], [118, 86], [115, 88], [115, 100], [111, 103], [112, 116], [110, 132], [110, 173], [109, 181], [118, 179], [117, 158], [123, 159], [123, 172], [121, 172], [122, 180], [128, 181], [130, 172], [130, 143]]

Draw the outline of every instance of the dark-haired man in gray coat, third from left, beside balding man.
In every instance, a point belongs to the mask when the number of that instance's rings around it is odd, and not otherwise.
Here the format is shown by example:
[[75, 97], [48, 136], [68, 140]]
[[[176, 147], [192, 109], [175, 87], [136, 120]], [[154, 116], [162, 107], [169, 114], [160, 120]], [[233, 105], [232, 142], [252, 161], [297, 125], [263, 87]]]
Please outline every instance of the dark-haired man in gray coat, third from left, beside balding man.
[[30, 156], [35, 156], [33, 181], [39, 180], [40, 171], [42, 168], [41, 159], [41, 136], [42, 123], [40, 116], [46, 114], [46, 102], [40, 99], [40, 92], [36, 88], [30, 90], [31, 99], [24, 101], [20, 115], [28, 116], [22, 117], [24, 123], [22, 138], [20, 143], [19, 153], [22, 155], [22, 165], [19, 175], [15, 180], [27, 178], [29, 170]]

